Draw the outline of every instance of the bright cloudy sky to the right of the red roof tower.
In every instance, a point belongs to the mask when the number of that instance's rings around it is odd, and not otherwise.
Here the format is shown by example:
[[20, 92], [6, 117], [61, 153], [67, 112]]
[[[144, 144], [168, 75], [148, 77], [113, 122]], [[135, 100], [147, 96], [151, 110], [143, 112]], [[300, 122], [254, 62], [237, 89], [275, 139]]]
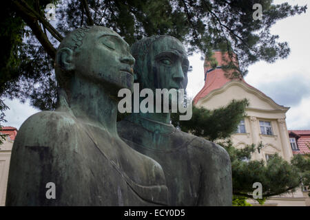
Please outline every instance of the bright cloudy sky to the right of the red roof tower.
[[[282, 3], [283, 1], [275, 1]], [[307, 1], [289, 1], [291, 5], [305, 5]], [[287, 111], [288, 129], [310, 129], [310, 12], [278, 21], [271, 34], [278, 34], [280, 41], [287, 41], [291, 54], [276, 63], [260, 61], [249, 67], [245, 80], [260, 89], [278, 104], [291, 104]], [[267, 88], [272, 87], [272, 88]], [[291, 92], [291, 93], [290, 93]], [[292, 98], [298, 102], [292, 102]]]

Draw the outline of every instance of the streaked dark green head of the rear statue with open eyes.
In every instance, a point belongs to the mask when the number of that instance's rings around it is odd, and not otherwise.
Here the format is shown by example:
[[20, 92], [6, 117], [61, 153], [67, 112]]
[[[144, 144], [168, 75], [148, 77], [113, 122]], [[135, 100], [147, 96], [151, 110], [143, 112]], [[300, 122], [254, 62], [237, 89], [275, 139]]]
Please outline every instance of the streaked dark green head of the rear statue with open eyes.
[[173, 36], [151, 36], [132, 45], [135, 82], [141, 89], [186, 89], [189, 61], [183, 44]]

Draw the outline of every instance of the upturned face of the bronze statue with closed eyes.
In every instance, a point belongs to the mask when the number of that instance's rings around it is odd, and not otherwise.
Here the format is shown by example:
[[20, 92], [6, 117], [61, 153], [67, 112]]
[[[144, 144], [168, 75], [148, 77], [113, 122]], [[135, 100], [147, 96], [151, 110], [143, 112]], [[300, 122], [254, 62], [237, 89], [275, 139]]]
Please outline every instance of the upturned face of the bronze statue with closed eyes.
[[74, 54], [75, 72], [94, 83], [104, 84], [112, 94], [121, 88], [133, 89], [134, 57], [129, 45], [116, 32], [92, 28]]

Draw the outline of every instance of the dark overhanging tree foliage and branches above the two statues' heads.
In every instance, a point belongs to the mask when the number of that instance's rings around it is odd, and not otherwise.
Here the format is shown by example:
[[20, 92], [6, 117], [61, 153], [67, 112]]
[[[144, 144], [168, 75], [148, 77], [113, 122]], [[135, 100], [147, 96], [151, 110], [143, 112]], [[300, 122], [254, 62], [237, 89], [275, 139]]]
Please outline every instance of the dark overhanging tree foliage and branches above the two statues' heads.
[[[56, 5], [56, 21], [45, 19], [48, 3]], [[262, 20], [254, 20], [254, 3], [262, 5]], [[286, 42], [270, 34], [280, 19], [305, 12], [307, 6], [271, 0], [12, 0], [1, 7], [0, 96], [30, 99], [39, 109], [54, 109], [56, 83], [53, 59], [68, 32], [84, 25], [104, 25], [134, 43], [154, 34], [180, 39], [189, 54], [207, 56], [214, 49], [238, 56], [238, 71], [256, 61], [274, 62], [289, 54]]]

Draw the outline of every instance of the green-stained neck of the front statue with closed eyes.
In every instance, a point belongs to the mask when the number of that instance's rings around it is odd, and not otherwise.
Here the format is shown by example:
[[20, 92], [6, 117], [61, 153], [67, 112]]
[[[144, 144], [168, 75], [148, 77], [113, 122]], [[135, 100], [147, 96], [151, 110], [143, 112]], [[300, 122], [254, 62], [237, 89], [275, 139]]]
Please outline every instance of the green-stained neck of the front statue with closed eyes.
[[68, 101], [74, 116], [85, 124], [97, 126], [118, 137], [117, 100], [99, 85], [80, 77], [72, 78]]

